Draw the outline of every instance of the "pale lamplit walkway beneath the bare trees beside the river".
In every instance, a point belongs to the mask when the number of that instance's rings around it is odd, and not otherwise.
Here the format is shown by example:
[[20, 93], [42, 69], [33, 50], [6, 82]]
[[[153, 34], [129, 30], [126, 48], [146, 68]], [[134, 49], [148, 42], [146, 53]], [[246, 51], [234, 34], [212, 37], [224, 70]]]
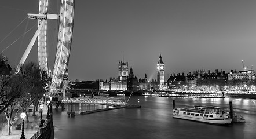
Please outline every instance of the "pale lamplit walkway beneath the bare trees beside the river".
[[[30, 107], [33, 109], [32, 107]], [[41, 113], [39, 112], [40, 108], [38, 108], [38, 111], [35, 112], [36, 116], [32, 116], [32, 112], [28, 112], [28, 120], [29, 123], [26, 122], [26, 119], [24, 119], [24, 134], [25, 138], [31, 138], [36, 131], [38, 130], [40, 119], [41, 119]], [[22, 119], [20, 118], [21, 112], [19, 112], [19, 116], [17, 116], [16, 121], [14, 122], [12, 126], [12, 135], [8, 135], [8, 126], [7, 123], [1, 123], [0, 127], [0, 139], [17, 139], [21, 137], [21, 130], [16, 130], [15, 125], [22, 123]], [[47, 106], [43, 107], [43, 119], [46, 118], [47, 114]], [[3, 114], [4, 115], [4, 114]]]

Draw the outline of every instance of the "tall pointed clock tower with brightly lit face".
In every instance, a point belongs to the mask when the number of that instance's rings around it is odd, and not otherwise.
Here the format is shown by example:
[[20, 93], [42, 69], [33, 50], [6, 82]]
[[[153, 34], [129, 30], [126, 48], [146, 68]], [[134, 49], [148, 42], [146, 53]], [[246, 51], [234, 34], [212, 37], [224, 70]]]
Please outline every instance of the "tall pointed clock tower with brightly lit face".
[[164, 86], [164, 64], [161, 54], [158, 58], [158, 64], [156, 64], [156, 68], [158, 69], [158, 85], [159, 88], [162, 89]]

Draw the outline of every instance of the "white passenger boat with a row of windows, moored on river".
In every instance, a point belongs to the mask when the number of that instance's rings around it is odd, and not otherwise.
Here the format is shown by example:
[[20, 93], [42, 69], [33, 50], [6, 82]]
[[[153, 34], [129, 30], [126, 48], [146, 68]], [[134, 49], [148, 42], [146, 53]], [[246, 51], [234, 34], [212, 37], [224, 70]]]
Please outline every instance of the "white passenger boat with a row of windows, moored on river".
[[229, 125], [232, 119], [223, 108], [195, 105], [193, 108], [174, 108], [173, 118], [193, 120], [213, 125]]

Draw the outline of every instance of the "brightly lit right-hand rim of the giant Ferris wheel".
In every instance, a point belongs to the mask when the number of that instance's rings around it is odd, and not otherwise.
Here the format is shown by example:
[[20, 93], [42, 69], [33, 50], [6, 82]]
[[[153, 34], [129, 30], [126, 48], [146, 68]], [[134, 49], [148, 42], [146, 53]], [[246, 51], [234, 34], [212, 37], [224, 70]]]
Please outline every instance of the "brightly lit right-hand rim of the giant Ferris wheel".
[[74, 0], [61, 1], [59, 22], [58, 44], [51, 88], [60, 87], [67, 69], [74, 26]]

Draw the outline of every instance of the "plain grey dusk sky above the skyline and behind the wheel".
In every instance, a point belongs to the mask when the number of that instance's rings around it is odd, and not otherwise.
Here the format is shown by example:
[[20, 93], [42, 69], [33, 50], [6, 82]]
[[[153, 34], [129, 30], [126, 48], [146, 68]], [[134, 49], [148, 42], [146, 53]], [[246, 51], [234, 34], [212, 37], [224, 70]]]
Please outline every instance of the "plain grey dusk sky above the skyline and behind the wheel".
[[[48, 13], [59, 13], [59, 4], [49, 0]], [[12, 68], [36, 31], [38, 21], [27, 19], [27, 13], [38, 13], [38, 5], [36, 0], [1, 1], [0, 52], [20, 37], [2, 53]], [[51, 69], [57, 25], [57, 20], [48, 20]], [[123, 57], [138, 78], [147, 74], [156, 79], [160, 53], [166, 81], [172, 73], [186, 75], [200, 69], [239, 71], [241, 60], [249, 69], [256, 68], [255, 0], [75, 0], [73, 33], [68, 64], [71, 81], [118, 77]], [[27, 61], [37, 61], [37, 43]]]

